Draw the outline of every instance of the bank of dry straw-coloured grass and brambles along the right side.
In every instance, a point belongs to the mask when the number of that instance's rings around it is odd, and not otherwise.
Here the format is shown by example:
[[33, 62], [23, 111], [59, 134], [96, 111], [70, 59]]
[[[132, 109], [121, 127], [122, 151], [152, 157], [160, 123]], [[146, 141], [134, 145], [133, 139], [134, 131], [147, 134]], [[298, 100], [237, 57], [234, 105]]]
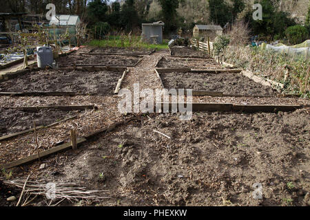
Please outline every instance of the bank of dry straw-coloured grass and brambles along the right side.
[[225, 60], [236, 67], [283, 83], [286, 93], [310, 97], [309, 61], [304, 58], [292, 59], [258, 47], [232, 45], [225, 50]]

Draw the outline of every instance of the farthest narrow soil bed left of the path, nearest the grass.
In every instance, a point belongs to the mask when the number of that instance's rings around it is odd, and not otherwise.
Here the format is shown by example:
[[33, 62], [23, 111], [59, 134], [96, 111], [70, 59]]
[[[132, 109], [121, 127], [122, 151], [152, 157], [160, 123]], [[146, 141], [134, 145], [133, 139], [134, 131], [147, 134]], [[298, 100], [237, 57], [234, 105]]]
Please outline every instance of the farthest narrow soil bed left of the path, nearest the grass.
[[144, 48], [130, 48], [130, 47], [96, 47], [91, 50], [92, 53], [96, 54], [150, 54], [153, 50], [148, 50]]

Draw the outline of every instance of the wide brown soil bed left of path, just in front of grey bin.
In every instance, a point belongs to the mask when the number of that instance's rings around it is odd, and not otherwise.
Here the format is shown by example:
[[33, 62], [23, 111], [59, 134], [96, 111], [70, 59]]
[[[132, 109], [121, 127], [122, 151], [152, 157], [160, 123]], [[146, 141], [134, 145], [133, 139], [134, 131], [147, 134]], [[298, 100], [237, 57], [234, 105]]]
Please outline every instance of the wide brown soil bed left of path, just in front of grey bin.
[[121, 72], [50, 70], [32, 72], [0, 83], [0, 91], [71, 91], [80, 94], [114, 94]]

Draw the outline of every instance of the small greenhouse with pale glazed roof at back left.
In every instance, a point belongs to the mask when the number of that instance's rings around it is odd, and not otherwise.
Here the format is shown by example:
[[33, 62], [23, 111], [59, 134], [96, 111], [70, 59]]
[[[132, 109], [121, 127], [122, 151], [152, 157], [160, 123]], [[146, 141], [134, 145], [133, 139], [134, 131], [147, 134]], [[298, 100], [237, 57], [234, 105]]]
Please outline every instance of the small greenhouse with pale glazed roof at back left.
[[[76, 28], [80, 23], [80, 18], [77, 15], [56, 15], [50, 20], [50, 35], [53, 36], [54, 32], [56, 37], [59, 38], [61, 35], [65, 34], [68, 28], [68, 32], [70, 34], [70, 43], [76, 44]], [[55, 28], [52, 26], [55, 25]]]

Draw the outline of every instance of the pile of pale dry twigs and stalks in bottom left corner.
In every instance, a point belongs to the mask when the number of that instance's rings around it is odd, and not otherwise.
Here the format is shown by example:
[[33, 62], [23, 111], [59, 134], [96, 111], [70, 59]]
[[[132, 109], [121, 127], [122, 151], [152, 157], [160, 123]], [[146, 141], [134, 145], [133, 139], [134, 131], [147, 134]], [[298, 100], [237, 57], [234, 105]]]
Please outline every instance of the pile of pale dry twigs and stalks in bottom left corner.
[[[59, 203], [67, 200], [71, 203], [85, 200], [94, 201], [99, 199], [109, 199], [110, 197], [100, 197], [99, 192], [107, 193], [107, 190], [86, 190], [84, 187], [79, 187], [72, 183], [53, 182], [43, 183], [39, 181], [26, 180], [6, 180], [3, 184], [22, 188], [19, 201], [16, 206], [28, 206], [38, 196], [42, 196], [47, 206], [57, 206]], [[23, 203], [21, 201], [23, 200]]]

